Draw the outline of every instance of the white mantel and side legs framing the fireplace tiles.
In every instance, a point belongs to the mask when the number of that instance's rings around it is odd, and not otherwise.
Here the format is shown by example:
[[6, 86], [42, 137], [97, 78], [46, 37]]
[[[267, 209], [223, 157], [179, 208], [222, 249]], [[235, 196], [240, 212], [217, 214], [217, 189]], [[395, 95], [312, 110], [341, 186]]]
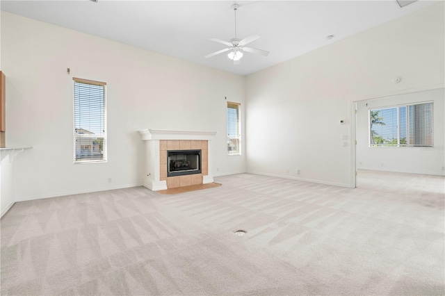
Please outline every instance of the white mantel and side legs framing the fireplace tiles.
[[145, 142], [145, 177], [144, 186], [152, 191], [167, 189], [167, 182], [160, 180], [159, 173], [159, 141], [160, 140], [207, 140], [208, 165], [207, 176], [202, 176], [202, 183], [212, 183], [213, 174], [211, 170], [211, 143], [218, 131], [172, 131], [162, 129], [143, 129], [138, 131]]

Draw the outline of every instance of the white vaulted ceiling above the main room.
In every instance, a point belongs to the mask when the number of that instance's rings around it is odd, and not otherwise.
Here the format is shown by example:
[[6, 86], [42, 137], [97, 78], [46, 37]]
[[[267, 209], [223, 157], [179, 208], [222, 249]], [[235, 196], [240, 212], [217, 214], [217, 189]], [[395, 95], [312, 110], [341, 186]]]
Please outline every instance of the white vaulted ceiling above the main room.
[[[241, 65], [226, 54], [204, 58], [225, 45], [209, 38], [261, 36], [248, 46], [270, 51], [245, 53]], [[401, 8], [380, 1], [5, 1], [1, 10], [116, 40], [135, 47], [247, 75], [305, 54], [435, 3], [416, 1]], [[327, 35], [334, 35], [327, 40]]]

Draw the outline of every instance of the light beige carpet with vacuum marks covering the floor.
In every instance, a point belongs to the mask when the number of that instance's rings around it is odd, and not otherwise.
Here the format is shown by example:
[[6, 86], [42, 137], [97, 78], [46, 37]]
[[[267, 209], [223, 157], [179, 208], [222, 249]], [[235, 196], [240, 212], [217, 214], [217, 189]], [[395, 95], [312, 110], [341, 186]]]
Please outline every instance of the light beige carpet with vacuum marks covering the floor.
[[20, 202], [1, 219], [1, 295], [444, 295], [444, 177], [391, 178]]

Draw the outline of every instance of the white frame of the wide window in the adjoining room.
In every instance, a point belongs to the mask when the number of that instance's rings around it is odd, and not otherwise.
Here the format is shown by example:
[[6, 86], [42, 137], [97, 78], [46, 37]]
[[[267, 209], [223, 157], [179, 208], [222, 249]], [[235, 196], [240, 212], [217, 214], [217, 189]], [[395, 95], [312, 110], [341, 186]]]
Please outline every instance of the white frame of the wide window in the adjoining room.
[[[423, 105], [423, 104], [431, 104], [431, 145], [416, 145], [416, 144], [401, 144], [401, 122], [400, 122], [400, 113], [401, 108], [409, 108], [410, 106], [416, 106], [416, 105]], [[388, 109], [396, 109], [397, 116], [396, 116], [396, 129], [397, 129], [397, 144], [388, 144], [388, 145], [378, 145], [378, 144], [371, 144], [371, 111], [375, 110], [388, 110]], [[414, 117], [415, 118], [415, 117]], [[414, 119], [415, 120], [415, 119]], [[408, 126], [408, 124], [407, 124]], [[407, 127], [408, 129], [408, 127]], [[434, 101], [421, 101], [421, 102], [415, 102], [415, 103], [406, 103], [406, 104], [396, 104], [391, 106], [382, 106], [382, 107], [375, 107], [375, 108], [369, 108], [368, 109], [368, 147], [370, 148], [432, 148], [434, 147]], [[407, 135], [408, 137], [408, 135]]]

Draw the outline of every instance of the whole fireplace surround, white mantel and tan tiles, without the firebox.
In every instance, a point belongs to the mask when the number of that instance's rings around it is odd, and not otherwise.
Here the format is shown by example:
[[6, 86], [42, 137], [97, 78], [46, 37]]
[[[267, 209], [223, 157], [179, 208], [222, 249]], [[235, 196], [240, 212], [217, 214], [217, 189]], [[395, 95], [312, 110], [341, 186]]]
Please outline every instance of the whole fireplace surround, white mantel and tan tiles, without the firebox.
[[[211, 141], [217, 131], [138, 131], [145, 142], [144, 186], [152, 191], [213, 182]], [[167, 151], [201, 149], [201, 174], [167, 176]]]

